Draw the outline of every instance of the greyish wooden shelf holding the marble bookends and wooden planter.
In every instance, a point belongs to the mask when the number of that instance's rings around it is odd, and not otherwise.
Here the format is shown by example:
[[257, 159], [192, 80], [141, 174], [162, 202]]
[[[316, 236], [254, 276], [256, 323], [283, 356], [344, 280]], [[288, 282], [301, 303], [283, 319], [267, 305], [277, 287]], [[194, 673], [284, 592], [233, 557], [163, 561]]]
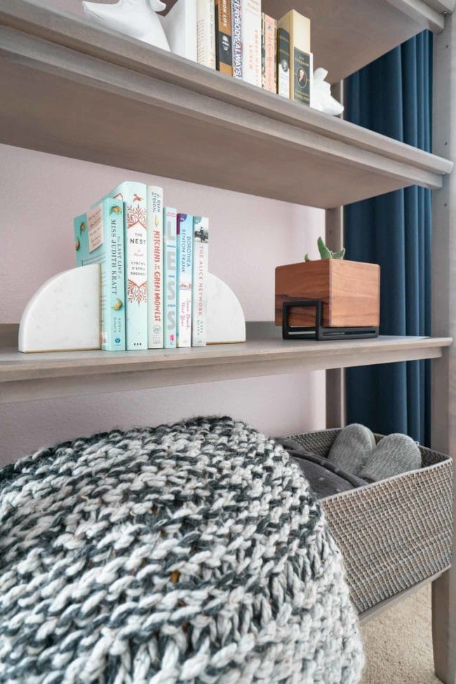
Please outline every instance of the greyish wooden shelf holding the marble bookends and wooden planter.
[[[11, 329], [0, 326], [0, 340], [11, 336]], [[0, 403], [438, 358], [451, 342], [450, 337], [391, 336], [288, 341], [271, 323], [248, 324], [244, 344], [192, 349], [21, 354], [4, 342]]]

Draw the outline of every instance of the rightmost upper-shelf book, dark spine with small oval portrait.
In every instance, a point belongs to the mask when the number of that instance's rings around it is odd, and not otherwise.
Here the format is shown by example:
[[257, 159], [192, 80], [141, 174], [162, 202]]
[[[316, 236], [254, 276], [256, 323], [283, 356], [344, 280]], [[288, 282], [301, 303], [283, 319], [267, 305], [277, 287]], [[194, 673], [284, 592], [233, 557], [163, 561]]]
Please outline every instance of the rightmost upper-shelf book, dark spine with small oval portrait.
[[279, 29], [290, 36], [290, 99], [310, 105], [310, 19], [290, 10], [279, 20]]

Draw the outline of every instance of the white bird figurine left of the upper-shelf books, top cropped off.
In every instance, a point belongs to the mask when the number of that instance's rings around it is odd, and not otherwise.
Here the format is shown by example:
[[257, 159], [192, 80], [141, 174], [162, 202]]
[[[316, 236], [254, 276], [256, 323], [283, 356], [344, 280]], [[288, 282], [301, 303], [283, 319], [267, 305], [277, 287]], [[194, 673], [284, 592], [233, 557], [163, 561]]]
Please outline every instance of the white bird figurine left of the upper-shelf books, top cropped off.
[[86, 2], [83, 10], [90, 20], [130, 38], [170, 51], [165, 32], [156, 15], [166, 9], [161, 0], [119, 0], [116, 4]]

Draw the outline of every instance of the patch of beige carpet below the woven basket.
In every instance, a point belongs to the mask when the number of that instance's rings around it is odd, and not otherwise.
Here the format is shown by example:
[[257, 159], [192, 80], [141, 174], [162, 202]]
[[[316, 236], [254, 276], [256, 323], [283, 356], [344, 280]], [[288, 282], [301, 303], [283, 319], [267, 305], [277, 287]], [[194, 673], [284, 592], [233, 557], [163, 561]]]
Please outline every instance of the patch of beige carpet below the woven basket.
[[431, 585], [367, 622], [363, 684], [438, 684], [431, 638]]

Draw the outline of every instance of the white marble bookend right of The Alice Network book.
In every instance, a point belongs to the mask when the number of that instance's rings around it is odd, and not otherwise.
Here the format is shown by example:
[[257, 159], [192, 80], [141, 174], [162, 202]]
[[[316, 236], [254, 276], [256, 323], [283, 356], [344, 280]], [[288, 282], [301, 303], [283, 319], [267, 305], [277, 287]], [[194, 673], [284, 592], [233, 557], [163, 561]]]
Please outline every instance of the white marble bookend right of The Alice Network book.
[[227, 283], [208, 273], [207, 344], [246, 342], [246, 318]]

